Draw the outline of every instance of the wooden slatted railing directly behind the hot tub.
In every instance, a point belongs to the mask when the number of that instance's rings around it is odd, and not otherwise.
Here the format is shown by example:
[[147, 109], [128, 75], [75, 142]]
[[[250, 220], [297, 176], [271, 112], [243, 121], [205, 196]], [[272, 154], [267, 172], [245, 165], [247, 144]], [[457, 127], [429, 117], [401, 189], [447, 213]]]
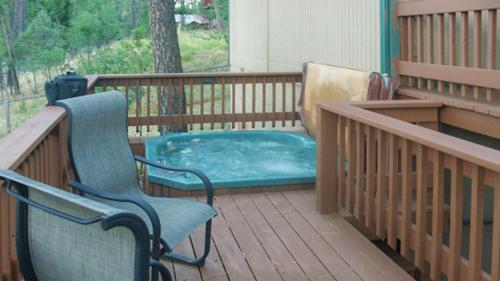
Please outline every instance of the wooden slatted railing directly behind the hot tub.
[[131, 132], [142, 136], [300, 125], [301, 83], [300, 72], [100, 75], [91, 90], [123, 92]]

